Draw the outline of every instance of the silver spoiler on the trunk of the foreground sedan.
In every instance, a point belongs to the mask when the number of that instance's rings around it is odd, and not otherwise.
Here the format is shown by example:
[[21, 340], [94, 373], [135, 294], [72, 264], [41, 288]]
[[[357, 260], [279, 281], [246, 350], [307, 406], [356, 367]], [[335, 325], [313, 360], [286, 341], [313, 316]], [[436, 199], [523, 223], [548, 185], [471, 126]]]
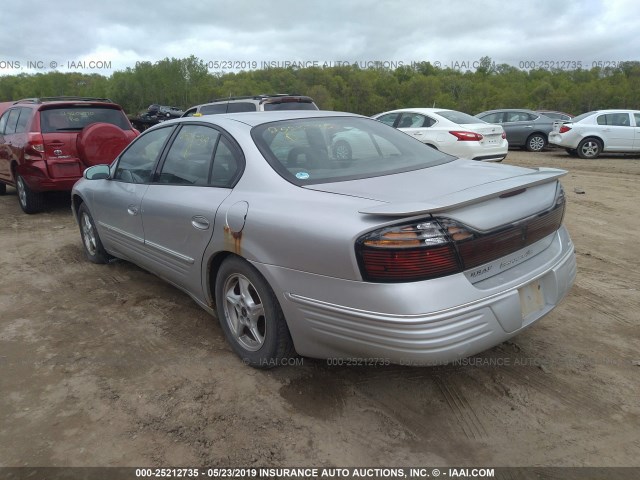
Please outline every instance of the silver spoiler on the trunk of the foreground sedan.
[[436, 213], [452, 208], [464, 207], [482, 200], [513, 192], [521, 188], [533, 187], [542, 183], [552, 182], [567, 174], [566, 170], [558, 168], [536, 168], [535, 171], [517, 177], [483, 183], [458, 192], [431, 198], [424, 202], [387, 203], [375, 207], [359, 210], [364, 215], [381, 215], [387, 217], [406, 217]]

